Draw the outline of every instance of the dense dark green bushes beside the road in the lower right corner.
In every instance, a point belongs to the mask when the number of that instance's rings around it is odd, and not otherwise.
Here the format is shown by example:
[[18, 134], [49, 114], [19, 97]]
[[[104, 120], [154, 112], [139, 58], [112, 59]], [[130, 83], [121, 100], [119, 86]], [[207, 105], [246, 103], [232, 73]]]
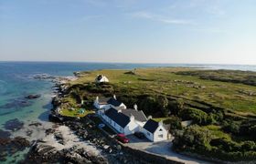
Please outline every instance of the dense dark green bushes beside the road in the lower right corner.
[[173, 148], [177, 151], [188, 151], [229, 161], [256, 159], [255, 142], [238, 143], [227, 138], [213, 138], [212, 136], [206, 128], [191, 126], [183, 132], [177, 131]]

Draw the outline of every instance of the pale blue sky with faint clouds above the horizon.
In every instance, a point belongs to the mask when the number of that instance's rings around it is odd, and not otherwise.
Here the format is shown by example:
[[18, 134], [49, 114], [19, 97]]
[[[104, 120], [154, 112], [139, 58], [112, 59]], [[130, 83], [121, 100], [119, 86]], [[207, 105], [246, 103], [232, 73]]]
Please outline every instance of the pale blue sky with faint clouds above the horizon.
[[255, 0], [0, 0], [0, 60], [256, 65]]

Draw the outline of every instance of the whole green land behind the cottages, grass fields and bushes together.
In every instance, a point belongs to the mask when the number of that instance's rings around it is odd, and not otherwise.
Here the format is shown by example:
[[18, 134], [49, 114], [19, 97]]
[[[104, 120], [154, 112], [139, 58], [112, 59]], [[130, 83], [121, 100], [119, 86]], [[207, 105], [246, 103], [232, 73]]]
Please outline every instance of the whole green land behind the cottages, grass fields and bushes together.
[[[108, 84], [95, 84], [97, 75]], [[81, 72], [69, 84], [61, 108], [93, 108], [95, 97], [118, 97], [137, 104], [146, 117], [169, 125], [176, 151], [229, 161], [256, 159], [256, 72], [199, 70], [186, 67]], [[191, 120], [183, 127], [181, 121]], [[101, 120], [94, 120], [99, 124]], [[106, 131], [112, 131], [105, 127]], [[220, 154], [219, 154], [220, 153]]]

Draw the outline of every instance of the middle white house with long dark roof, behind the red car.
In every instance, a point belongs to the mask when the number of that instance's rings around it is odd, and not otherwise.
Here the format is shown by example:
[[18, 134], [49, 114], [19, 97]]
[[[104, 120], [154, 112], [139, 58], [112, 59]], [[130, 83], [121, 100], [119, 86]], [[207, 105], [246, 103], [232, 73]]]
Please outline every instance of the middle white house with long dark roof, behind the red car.
[[106, 112], [101, 113], [101, 117], [108, 122], [112, 128], [124, 135], [133, 134], [141, 130], [147, 118], [143, 111], [131, 108], [110, 108]]

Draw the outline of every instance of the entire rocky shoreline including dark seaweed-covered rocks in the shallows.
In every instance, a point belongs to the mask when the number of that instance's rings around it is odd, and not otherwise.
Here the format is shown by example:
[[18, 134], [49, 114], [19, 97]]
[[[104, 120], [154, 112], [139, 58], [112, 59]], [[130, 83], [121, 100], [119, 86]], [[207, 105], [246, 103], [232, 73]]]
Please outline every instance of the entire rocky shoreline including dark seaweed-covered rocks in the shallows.
[[[5, 156], [10, 153], [7, 147], [11, 144], [15, 146], [16, 152], [19, 150], [29, 149], [24, 160], [18, 161], [22, 164], [39, 164], [39, 163], [154, 163], [152, 156], [142, 158], [140, 155], [134, 155], [133, 149], [127, 150], [123, 144], [117, 142], [108, 134], [101, 131], [100, 128], [91, 121], [90, 118], [69, 118], [59, 115], [59, 105], [61, 98], [65, 97], [66, 89], [69, 88], [69, 81], [75, 80], [76, 77], [36, 77], [41, 80], [51, 80], [54, 83], [52, 97], [52, 106], [48, 119], [52, 124], [42, 125], [40, 122], [32, 122], [25, 125], [18, 120], [12, 120], [9, 128], [19, 131], [12, 138], [5, 131], [5, 139], [0, 139], [0, 159], [5, 161]], [[27, 98], [37, 98], [38, 95], [27, 96]], [[93, 116], [92, 116], [93, 117]], [[36, 130], [44, 131], [43, 136], [35, 135]], [[11, 129], [12, 130], [12, 129]], [[25, 133], [27, 138], [20, 138], [19, 134]], [[7, 140], [6, 140], [7, 138]], [[36, 138], [36, 140], [35, 140]], [[3, 142], [4, 141], [4, 142]], [[5, 143], [5, 144], [3, 144]], [[6, 145], [6, 147], [1, 147]], [[13, 151], [15, 152], [15, 151]], [[154, 159], [154, 158], [153, 158]], [[157, 160], [157, 159], [156, 159]], [[165, 161], [165, 160], [164, 160]], [[17, 162], [17, 161], [12, 161]], [[176, 163], [165, 161], [164, 163]]]

